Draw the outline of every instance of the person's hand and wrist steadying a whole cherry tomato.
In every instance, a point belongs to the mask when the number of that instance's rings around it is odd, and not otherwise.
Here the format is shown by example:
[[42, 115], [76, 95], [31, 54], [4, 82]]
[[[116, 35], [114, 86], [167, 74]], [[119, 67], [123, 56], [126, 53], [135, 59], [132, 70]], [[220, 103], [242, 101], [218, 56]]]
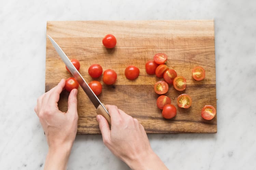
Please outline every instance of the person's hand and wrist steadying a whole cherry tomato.
[[69, 94], [68, 111], [59, 111], [59, 95], [65, 87], [65, 79], [40, 96], [34, 108], [43, 126], [49, 151], [44, 169], [66, 169], [70, 151], [77, 132], [77, 89]]

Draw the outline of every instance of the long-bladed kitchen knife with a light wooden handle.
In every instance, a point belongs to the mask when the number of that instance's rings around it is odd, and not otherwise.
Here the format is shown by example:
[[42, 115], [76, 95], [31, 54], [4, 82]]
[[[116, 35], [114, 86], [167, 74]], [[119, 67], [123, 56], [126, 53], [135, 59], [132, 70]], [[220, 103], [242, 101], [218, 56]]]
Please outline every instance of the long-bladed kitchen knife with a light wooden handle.
[[66, 66], [68, 67], [71, 74], [74, 76], [74, 78], [80, 84], [80, 86], [82, 87], [82, 89], [84, 90], [86, 95], [89, 97], [91, 102], [94, 104], [94, 106], [96, 108], [96, 113], [98, 115], [104, 116], [104, 118], [106, 118], [108, 123], [111, 124], [108, 109], [104, 106], [104, 104], [102, 104], [100, 102], [98, 97], [94, 94], [93, 90], [91, 90], [91, 88], [88, 86], [88, 84], [86, 83], [86, 81], [84, 80], [82, 75], [77, 71], [75, 66], [71, 63], [71, 61], [69, 60], [67, 55], [61, 50], [61, 48], [58, 46], [58, 44], [52, 39], [52, 37], [50, 37], [49, 35], [47, 35], [47, 36], [51, 40], [51, 42], [53, 44], [53, 47], [55, 48], [55, 50], [59, 54], [62, 61], [66, 64]]

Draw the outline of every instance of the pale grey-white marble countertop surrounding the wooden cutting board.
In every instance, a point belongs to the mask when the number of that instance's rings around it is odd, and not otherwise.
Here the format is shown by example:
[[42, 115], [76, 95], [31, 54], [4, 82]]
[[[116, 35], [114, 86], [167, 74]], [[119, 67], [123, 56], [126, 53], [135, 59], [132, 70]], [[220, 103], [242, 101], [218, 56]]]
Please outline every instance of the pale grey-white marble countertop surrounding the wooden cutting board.
[[[44, 93], [47, 20], [214, 19], [217, 134], [148, 135], [169, 169], [255, 169], [256, 1], [0, 1], [0, 169], [43, 169], [33, 111]], [[129, 169], [101, 135], [77, 136], [69, 170]]]

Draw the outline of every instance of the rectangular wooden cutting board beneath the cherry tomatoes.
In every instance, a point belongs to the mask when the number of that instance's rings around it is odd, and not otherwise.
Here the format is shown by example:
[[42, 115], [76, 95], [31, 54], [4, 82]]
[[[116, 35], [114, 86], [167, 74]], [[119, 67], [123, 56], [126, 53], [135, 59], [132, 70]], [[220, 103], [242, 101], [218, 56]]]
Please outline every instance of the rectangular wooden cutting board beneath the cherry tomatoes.
[[[95, 80], [102, 83], [98, 96], [102, 103], [117, 105], [127, 114], [137, 118], [147, 133], [216, 133], [217, 117], [207, 121], [201, 117], [204, 105], [216, 108], [215, 50], [213, 20], [151, 20], [151, 21], [48, 21], [46, 34], [50, 35], [71, 58], [80, 61], [80, 73], [89, 83], [91, 64], [100, 64], [105, 69], [114, 69], [117, 81], [105, 85], [102, 76]], [[106, 34], [116, 36], [114, 49], [106, 49], [102, 38]], [[156, 106], [159, 95], [154, 84], [162, 80], [148, 75], [145, 63], [154, 54], [168, 55], [167, 66], [175, 69], [177, 75], [187, 80], [185, 91], [177, 91], [171, 85], [167, 96], [177, 108], [177, 115], [171, 120], [164, 119]], [[124, 71], [128, 65], [140, 69], [140, 76], [130, 81]], [[205, 69], [206, 77], [195, 81], [191, 71], [195, 66]], [[71, 74], [58, 56], [50, 40], [46, 38], [45, 91], [56, 86], [62, 78]], [[188, 94], [193, 102], [190, 108], [177, 106], [177, 97]], [[59, 109], [67, 111], [68, 92], [61, 93]], [[96, 109], [79, 87], [78, 134], [99, 134]]]

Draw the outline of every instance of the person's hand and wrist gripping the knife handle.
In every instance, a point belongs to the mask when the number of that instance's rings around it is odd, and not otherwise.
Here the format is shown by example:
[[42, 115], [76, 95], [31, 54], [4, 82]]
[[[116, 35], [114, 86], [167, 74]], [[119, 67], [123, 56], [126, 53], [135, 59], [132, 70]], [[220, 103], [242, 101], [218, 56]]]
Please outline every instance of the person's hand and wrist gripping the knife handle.
[[111, 130], [102, 115], [97, 115], [103, 143], [131, 169], [167, 169], [153, 152], [144, 127], [137, 119], [113, 105], [106, 105], [111, 117]]

